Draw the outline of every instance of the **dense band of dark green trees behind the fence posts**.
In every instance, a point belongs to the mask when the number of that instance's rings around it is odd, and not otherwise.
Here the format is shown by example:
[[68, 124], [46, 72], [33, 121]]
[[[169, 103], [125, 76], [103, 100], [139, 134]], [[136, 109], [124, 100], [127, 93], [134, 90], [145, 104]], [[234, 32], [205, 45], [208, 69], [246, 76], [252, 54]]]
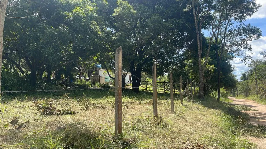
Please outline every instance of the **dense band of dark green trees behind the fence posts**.
[[158, 75], [194, 79], [200, 98], [212, 90], [219, 98], [220, 87], [236, 84], [230, 60], [261, 35], [242, 24], [257, 8], [253, 0], [17, 0], [6, 10], [3, 74], [9, 79], [2, 84], [10, 90], [10, 80], [31, 87], [70, 83], [77, 74], [90, 75], [95, 63], [113, 71], [114, 51], [122, 46], [134, 91], [156, 62]]

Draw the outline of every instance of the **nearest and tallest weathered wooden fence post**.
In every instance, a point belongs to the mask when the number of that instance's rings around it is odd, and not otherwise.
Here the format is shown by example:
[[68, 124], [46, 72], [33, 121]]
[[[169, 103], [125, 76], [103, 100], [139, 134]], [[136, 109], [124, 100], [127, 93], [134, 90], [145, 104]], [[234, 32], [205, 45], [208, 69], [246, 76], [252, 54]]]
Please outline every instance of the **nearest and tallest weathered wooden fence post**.
[[116, 49], [116, 72], [115, 72], [115, 91], [116, 91], [116, 114], [115, 114], [115, 135], [122, 135], [122, 48]]

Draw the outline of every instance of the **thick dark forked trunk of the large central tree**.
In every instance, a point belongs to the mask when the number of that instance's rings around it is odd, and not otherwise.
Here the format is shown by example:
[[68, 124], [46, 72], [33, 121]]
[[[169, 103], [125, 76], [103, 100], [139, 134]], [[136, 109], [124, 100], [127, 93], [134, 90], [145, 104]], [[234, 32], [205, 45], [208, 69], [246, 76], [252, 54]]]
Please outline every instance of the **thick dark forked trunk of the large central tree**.
[[132, 90], [134, 92], [139, 92], [139, 86], [141, 82], [141, 70], [139, 66], [135, 68], [135, 63], [133, 61], [130, 62], [129, 64], [129, 69], [131, 73], [131, 78], [132, 78]]

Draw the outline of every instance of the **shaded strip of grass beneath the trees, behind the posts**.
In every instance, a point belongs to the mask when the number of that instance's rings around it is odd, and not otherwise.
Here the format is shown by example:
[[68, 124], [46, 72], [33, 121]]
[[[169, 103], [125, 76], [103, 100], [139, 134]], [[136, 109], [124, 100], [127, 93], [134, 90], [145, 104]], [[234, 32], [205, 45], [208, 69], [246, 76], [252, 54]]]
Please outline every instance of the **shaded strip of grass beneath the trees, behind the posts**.
[[[133, 100], [147, 100], [152, 99], [152, 92], [139, 91], [135, 93], [132, 90], [126, 89], [123, 90], [123, 97], [128, 97]], [[178, 95], [174, 94], [174, 98]], [[56, 92], [29, 92], [29, 93], [12, 93], [9, 95], [3, 95], [0, 102], [8, 101], [35, 101], [39, 99], [79, 99], [79, 98], [114, 98], [115, 90], [114, 89], [89, 89], [89, 90], [68, 90], [68, 91], [56, 91]], [[158, 93], [158, 99], [164, 100], [170, 98], [169, 93]]]

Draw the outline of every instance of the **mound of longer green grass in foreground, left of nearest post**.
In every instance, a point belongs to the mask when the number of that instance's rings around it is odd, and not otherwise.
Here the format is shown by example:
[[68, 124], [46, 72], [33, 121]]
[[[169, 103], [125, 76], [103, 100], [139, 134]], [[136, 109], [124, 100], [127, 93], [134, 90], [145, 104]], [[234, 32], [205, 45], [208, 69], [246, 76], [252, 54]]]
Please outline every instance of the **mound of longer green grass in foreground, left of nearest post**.
[[[24, 136], [13, 147], [22, 148], [62, 148], [62, 149], [87, 149], [87, 148], [127, 148], [136, 147], [136, 142], [132, 139], [117, 140], [112, 135], [107, 134], [107, 131], [88, 127], [80, 123], [70, 123], [66, 126], [56, 127], [56, 129], [42, 129], [38, 133], [33, 133]], [[129, 141], [128, 141], [129, 140]], [[13, 143], [12, 143], [13, 144]], [[2, 147], [8, 147], [8, 145]], [[1, 148], [1, 145], [0, 145]]]

